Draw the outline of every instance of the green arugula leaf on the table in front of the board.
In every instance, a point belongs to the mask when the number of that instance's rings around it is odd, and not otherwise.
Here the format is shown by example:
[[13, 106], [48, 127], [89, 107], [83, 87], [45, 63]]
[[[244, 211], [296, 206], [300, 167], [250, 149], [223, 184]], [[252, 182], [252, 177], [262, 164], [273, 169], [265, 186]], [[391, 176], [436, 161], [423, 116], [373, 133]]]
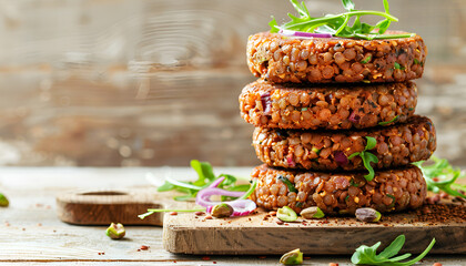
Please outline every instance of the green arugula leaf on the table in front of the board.
[[397, 257], [393, 257], [402, 249], [403, 245], [405, 244], [405, 236], [399, 235], [392, 242], [389, 246], [387, 246], [383, 252], [376, 255], [378, 246], [381, 246], [381, 242], [377, 242], [373, 246], [362, 245], [356, 248], [356, 252], [351, 257], [351, 262], [353, 264], [365, 264], [365, 265], [384, 265], [384, 266], [411, 266], [421, 259], [423, 259], [427, 253], [432, 249], [435, 244], [435, 238], [432, 239], [430, 244], [427, 248], [419, 254], [419, 256], [408, 260], [408, 262], [399, 262], [411, 257], [411, 254], [404, 254]]

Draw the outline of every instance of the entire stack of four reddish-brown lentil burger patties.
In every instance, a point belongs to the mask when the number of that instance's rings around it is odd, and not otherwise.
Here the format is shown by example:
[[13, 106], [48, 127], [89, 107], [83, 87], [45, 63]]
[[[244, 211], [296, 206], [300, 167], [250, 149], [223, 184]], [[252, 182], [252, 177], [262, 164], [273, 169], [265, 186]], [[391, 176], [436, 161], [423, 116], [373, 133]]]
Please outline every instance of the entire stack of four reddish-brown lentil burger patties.
[[[253, 146], [264, 162], [252, 173], [256, 204], [295, 212], [318, 206], [326, 214], [421, 206], [426, 183], [412, 163], [427, 160], [436, 139], [430, 120], [414, 114], [411, 80], [422, 76], [426, 54], [418, 35], [250, 37], [247, 63], [260, 79], [243, 89], [240, 108], [256, 126]], [[364, 153], [377, 160], [366, 162]]]

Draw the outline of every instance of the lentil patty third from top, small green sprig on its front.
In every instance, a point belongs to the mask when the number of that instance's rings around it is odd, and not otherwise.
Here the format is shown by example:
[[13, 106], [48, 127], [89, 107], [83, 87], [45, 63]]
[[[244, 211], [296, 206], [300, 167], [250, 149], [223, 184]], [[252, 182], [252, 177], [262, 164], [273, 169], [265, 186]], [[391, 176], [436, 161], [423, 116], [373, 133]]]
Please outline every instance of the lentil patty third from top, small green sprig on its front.
[[376, 139], [369, 152], [378, 157], [374, 168], [389, 168], [427, 160], [436, 149], [432, 121], [414, 115], [407, 123], [365, 131], [300, 131], [256, 127], [253, 146], [257, 157], [271, 165], [307, 170], [365, 170], [361, 156], [365, 136]]

